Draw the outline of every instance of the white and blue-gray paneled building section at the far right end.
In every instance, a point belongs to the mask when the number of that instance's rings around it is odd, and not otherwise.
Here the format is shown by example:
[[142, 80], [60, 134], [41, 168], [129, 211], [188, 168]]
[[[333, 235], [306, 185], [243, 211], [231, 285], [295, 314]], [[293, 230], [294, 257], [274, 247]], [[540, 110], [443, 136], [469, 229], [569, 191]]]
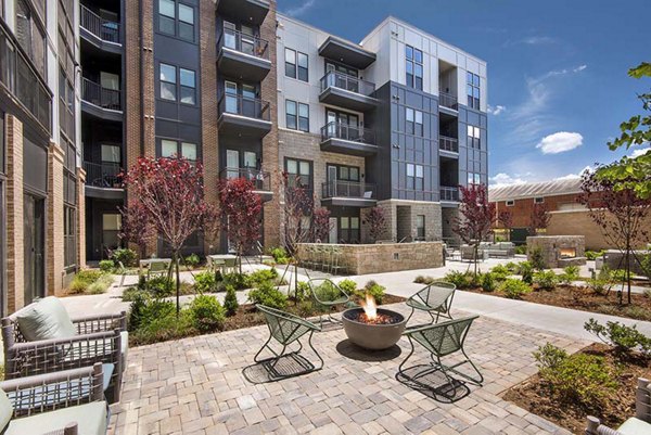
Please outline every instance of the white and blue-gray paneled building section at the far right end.
[[486, 63], [397, 18], [360, 43], [278, 15], [279, 167], [331, 212], [329, 241], [452, 236], [458, 185], [487, 182]]

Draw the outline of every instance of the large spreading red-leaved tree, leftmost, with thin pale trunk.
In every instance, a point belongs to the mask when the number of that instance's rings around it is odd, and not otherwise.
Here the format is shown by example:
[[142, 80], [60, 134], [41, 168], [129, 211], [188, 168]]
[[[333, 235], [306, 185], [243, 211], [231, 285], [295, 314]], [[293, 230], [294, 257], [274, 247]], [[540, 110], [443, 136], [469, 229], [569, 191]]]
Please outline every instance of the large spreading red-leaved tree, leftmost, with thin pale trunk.
[[217, 208], [203, 196], [203, 169], [184, 158], [140, 157], [123, 178], [129, 205], [123, 219], [130, 232], [152, 231], [167, 244], [176, 268], [177, 316], [180, 312], [180, 252], [188, 238], [218, 219]]

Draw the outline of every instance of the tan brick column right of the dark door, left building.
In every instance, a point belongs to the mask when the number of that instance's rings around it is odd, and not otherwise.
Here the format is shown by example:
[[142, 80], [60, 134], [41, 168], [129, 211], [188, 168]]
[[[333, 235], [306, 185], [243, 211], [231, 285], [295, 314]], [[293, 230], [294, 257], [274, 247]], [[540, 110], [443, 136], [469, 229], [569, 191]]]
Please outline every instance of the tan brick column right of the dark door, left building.
[[65, 239], [63, 218], [63, 162], [65, 153], [51, 142], [48, 151], [48, 225], [46, 265], [48, 296], [61, 295], [65, 278]]

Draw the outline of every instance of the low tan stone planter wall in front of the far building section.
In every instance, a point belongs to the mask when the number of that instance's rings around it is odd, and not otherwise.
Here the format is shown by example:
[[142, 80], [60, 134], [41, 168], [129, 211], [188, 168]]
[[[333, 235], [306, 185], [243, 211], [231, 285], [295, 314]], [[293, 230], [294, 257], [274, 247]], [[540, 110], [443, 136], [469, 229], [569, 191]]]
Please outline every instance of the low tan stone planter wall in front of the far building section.
[[[429, 269], [444, 265], [442, 242], [367, 245], [304, 243], [298, 245], [298, 258], [306, 260], [314, 256], [308, 246], [340, 250], [340, 265], [345, 266], [349, 274]], [[321, 259], [320, 256], [317, 259]]]

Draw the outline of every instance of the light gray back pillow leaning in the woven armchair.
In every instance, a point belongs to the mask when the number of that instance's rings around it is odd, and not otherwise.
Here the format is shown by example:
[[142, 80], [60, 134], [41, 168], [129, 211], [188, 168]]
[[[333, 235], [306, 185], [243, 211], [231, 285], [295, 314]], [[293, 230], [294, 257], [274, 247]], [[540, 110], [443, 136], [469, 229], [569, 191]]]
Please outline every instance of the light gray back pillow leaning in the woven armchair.
[[58, 297], [50, 296], [29, 304], [14, 315], [21, 333], [30, 342], [50, 338], [69, 338], [77, 335], [65, 307]]

